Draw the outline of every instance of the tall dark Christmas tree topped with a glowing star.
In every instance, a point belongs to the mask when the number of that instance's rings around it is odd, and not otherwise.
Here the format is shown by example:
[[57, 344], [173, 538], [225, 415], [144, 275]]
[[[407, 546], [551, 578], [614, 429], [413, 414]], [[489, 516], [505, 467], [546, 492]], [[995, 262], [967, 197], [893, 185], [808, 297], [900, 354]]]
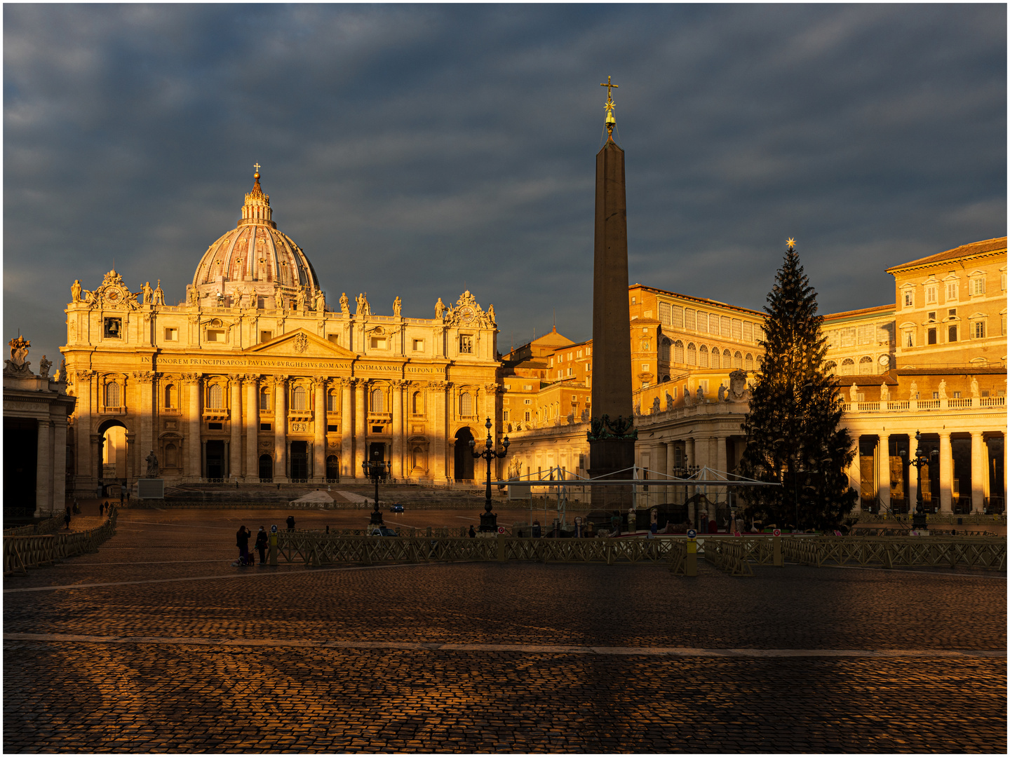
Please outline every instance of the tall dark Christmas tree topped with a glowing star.
[[764, 360], [751, 387], [742, 429], [747, 446], [740, 472], [781, 486], [754, 486], [748, 515], [780, 527], [834, 529], [855, 505], [846, 468], [855, 452], [839, 427], [842, 402], [834, 376], [823, 371], [817, 293], [790, 239], [765, 312]]

